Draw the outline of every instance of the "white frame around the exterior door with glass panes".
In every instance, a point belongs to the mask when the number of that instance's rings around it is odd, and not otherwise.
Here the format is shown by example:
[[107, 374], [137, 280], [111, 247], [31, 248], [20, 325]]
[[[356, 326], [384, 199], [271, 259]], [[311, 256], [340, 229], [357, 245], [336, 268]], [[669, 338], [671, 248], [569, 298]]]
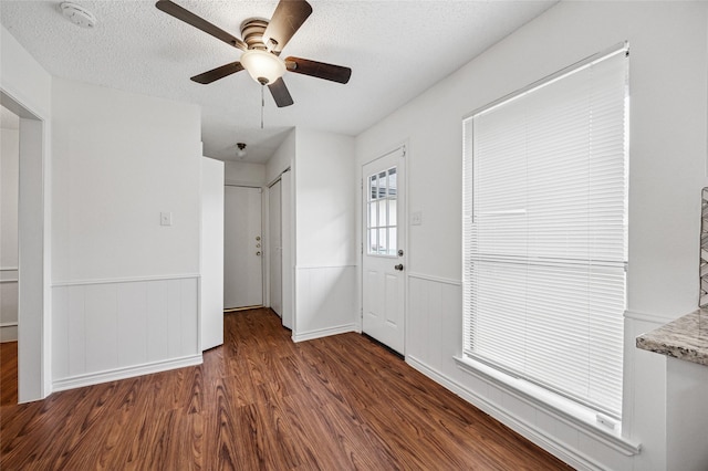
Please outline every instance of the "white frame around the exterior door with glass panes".
[[[403, 303], [402, 303], [402, 318], [403, 318], [403, 352], [400, 352], [400, 354], [405, 357], [406, 354], [406, 343], [408, 339], [408, 335], [407, 335], [407, 331], [408, 331], [408, 318], [407, 318], [407, 312], [408, 312], [408, 275], [407, 275], [407, 271], [408, 271], [408, 263], [407, 261], [410, 260], [409, 259], [409, 253], [408, 253], [408, 144], [406, 143], [402, 143], [398, 144], [396, 146], [393, 146], [391, 148], [388, 148], [385, 151], [378, 153], [376, 155], [375, 158], [372, 158], [365, 163], [362, 164], [361, 168], [360, 168], [360, 178], [361, 178], [361, 190], [362, 193], [360, 195], [360, 205], [362, 206], [361, 208], [361, 213], [360, 213], [360, 220], [361, 220], [361, 224], [360, 224], [360, 237], [362, 238], [362, 250], [361, 250], [361, 259], [360, 259], [360, 263], [362, 266], [361, 270], [361, 279], [360, 279], [360, 283], [361, 283], [361, 318], [360, 318], [360, 323], [361, 323], [361, 329], [362, 332], [364, 332], [364, 308], [366, 306], [366, 300], [364, 299], [365, 296], [365, 271], [364, 271], [364, 257], [365, 257], [365, 247], [368, 243], [368, 241], [366, 240], [366, 222], [367, 222], [367, 208], [366, 205], [364, 203], [364, 192], [367, 191], [367, 185], [368, 182], [365, 181], [366, 176], [364, 175], [364, 167], [366, 167], [368, 164], [372, 164], [376, 160], [378, 160], [379, 158], [386, 157], [389, 154], [395, 153], [396, 150], [400, 149], [403, 151], [403, 156], [400, 157], [402, 160], [402, 165], [403, 165], [403, 178], [400, 178], [400, 175], [398, 175], [398, 188], [400, 188], [403, 190], [404, 193], [404, 198], [403, 201], [399, 201], [400, 205], [397, 208], [397, 226], [404, 229], [404, 233], [403, 233], [403, 240], [399, 239], [399, 247], [398, 249], [403, 249], [404, 251], [404, 258], [403, 258], [403, 265], [404, 265], [404, 271], [403, 271]], [[393, 261], [394, 259], [392, 259]], [[394, 261], [393, 263], [399, 263]]]

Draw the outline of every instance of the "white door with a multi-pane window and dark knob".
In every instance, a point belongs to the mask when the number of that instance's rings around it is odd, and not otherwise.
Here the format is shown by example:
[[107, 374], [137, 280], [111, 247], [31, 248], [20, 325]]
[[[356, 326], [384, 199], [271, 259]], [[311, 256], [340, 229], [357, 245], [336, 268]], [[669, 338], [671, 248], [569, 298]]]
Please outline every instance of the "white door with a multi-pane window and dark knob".
[[402, 147], [362, 170], [362, 329], [405, 354], [405, 186]]

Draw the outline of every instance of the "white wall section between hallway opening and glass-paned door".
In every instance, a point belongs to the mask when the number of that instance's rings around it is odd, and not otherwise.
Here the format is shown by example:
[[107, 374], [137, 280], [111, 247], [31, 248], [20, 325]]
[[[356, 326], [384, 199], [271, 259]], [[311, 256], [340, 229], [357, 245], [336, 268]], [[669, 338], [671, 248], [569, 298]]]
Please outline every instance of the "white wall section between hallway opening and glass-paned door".
[[356, 178], [354, 139], [296, 129], [293, 338], [354, 331]]

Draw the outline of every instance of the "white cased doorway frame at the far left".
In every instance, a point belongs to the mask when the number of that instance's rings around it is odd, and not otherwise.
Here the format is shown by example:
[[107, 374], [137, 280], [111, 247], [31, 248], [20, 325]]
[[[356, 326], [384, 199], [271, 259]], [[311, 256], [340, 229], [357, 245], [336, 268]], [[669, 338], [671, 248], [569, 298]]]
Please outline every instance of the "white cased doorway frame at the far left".
[[29, 402], [52, 391], [50, 124], [4, 88], [0, 103], [20, 116], [18, 400]]

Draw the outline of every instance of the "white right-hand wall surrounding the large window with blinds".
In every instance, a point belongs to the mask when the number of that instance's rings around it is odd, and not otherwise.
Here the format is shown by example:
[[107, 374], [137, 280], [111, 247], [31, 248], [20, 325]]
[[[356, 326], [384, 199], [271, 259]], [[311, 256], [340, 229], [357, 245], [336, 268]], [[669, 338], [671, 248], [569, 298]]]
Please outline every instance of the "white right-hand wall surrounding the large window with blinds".
[[[423, 212], [423, 224], [409, 228], [407, 360], [581, 469], [666, 468], [666, 362], [634, 348], [634, 337], [698, 300], [707, 25], [705, 2], [561, 2], [356, 139], [360, 165], [410, 143], [408, 208]], [[461, 352], [462, 116], [625, 40], [632, 98], [623, 427], [642, 443], [634, 457], [452, 359]]]

